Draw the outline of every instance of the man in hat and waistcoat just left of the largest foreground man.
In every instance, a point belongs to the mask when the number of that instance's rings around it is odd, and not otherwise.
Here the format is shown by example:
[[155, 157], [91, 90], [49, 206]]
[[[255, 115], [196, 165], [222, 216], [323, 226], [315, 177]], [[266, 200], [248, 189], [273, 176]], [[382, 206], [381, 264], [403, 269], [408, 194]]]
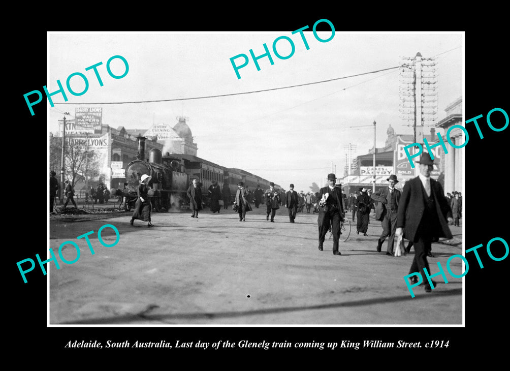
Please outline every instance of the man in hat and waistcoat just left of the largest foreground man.
[[395, 188], [395, 184], [398, 183], [396, 175], [390, 175], [387, 181], [388, 187], [379, 189], [371, 197], [372, 200], [377, 201], [375, 220], [380, 220], [382, 225], [382, 234], [377, 241], [377, 252], [381, 252], [382, 243], [384, 243], [386, 237], [389, 237], [386, 255], [393, 256], [400, 191]]

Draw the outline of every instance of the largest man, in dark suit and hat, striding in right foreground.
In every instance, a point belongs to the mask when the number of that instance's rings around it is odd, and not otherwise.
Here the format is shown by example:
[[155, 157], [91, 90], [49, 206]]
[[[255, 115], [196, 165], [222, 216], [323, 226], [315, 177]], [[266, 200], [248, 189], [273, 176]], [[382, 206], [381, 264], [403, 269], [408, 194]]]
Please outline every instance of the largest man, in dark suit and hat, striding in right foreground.
[[[430, 287], [424, 268], [430, 274], [427, 254], [431, 250], [432, 241], [439, 237], [452, 238], [448, 225], [453, 224], [451, 209], [444, 196], [441, 184], [430, 178], [433, 160], [428, 153], [418, 161], [420, 175], [405, 183], [400, 197], [395, 235], [404, 235], [414, 243], [415, 256], [411, 264], [410, 274], [419, 273], [425, 284], [425, 291]], [[412, 276], [411, 284], [417, 284], [417, 276]], [[435, 282], [432, 281], [432, 286]]]

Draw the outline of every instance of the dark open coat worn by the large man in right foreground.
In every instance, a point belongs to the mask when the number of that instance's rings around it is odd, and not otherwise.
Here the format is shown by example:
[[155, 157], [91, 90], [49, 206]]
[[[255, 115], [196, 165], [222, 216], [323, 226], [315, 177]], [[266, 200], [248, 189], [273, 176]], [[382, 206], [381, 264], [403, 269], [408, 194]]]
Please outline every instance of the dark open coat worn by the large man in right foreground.
[[[435, 198], [435, 206], [439, 222], [439, 229], [432, 231], [433, 239], [439, 237], [452, 238], [446, 219], [452, 217], [450, 205], [444, 196], [443, 187], [433, 179], [430, 179], [430, 191]], [[420, 226], [425, 210], [427, 196], [420, 177], [406, 182], [400, 196], [398, 206], [397, 228], [403, 228], [404, 237], [414, 241], [418, 227]]]

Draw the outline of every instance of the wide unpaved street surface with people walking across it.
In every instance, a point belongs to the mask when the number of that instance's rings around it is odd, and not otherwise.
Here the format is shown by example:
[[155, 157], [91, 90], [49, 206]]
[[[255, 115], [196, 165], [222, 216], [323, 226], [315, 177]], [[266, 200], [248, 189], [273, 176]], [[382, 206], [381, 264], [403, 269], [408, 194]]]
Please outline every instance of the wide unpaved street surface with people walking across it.
[[[349, 216], [351, 213], [348, 213]], [[104, 216], [103, 216], [104, 217]], [[382, 228], [373, 218], [369, 236], [356, 235], [340, 243], [341, 256], [331, 252], [333, 240], [318, 246], [317, 214], [298, 213], [289, 223], [287, 209], [266, 221], [265, 208], [248, 212], [240, 222], [232, 210], [153, 213], [153, 228], [130, 214], [69, 221], [50, 220], [53, 262], [49, 282], [49, 324], [101, 325], [462, 325], [462, 279], [440, 276], [436, 289], [414, 289], [412, 298], [403, 276], [409, 273], [414, 250], [404, 257], [375, 251]], [[119, 242], [100, 244], [97, 231], [115, 226]], [[451, 227], [462, 240], [461, 228]], [[91, 254], [84, 238], [89, 236]], [[115, 233], [101, 233], [107, 244]], [[65, 264], [59, 246], [74, 241], [80, 258]], [[428, 258], [432, 274], [437, 262], [446, 270], [451, 255], [462, 255], [462, 244], [432, 244]], [[63, 257], [77, 251], [65, 244]], [[461, 259], [451, 261], [461, 274]], [[419, 322], [418, 322], [419, 320]]]

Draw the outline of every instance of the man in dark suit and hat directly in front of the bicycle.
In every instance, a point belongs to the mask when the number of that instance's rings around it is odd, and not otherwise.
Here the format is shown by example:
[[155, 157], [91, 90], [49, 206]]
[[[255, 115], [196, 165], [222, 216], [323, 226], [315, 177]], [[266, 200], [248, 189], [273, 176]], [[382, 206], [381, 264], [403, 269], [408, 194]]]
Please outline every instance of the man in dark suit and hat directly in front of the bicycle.
[[333, 232], [333, 255], [341, 255], [338, 251], [341, 222], [344, 221], [344, 206], [342, 204], [342, 190], [335, 187], [337, 177], [335, 174], [327, 175], [328, 186], [321, 188], [318, 195], [319, 202], [319, 250], [322, 251], [324, 237], [331, 225]]

